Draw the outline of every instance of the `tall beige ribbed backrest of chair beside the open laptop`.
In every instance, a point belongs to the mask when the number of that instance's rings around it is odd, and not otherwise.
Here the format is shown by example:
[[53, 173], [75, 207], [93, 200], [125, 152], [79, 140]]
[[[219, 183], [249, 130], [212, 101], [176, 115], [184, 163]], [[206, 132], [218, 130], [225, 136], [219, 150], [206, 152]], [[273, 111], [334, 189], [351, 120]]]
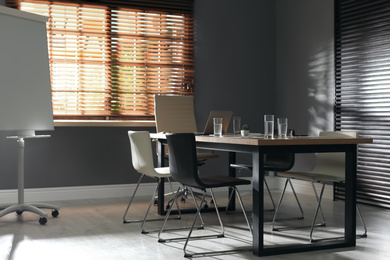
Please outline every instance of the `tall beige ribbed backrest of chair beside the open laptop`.
[[197, 132], [194, 97], [155, 95], [154, 115], [157, 132]]

